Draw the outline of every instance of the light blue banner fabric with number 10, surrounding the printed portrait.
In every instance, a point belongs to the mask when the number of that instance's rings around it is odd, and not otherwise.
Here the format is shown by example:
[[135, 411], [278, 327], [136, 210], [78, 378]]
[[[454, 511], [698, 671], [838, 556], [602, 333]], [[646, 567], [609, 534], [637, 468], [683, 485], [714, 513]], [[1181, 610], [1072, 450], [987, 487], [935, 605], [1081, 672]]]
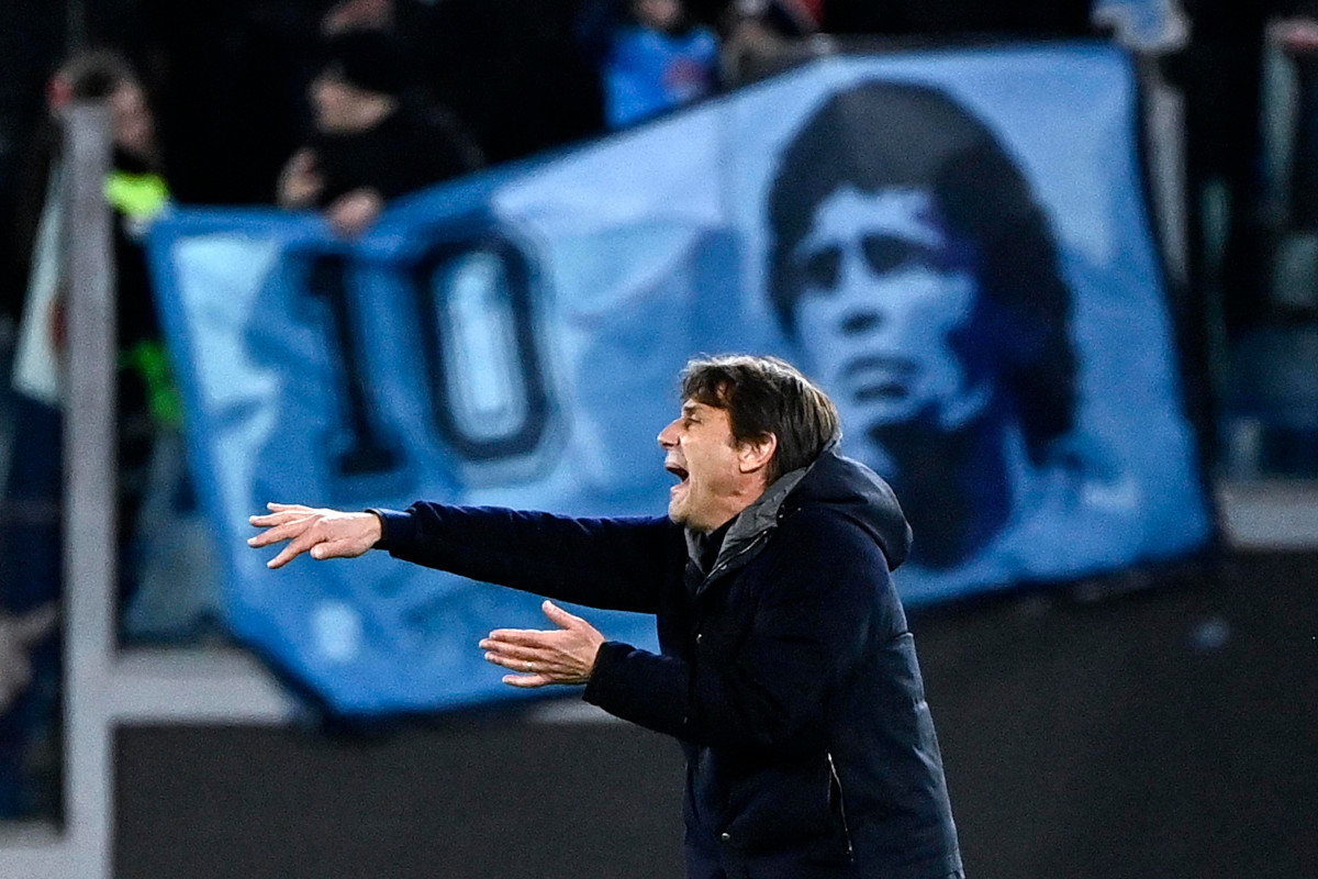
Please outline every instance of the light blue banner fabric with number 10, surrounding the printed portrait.
[[[272, 499], [416, 498], [662, 514], [672, 477], [655, 436], [687, 358], [797, 358], [763, 293], [766, 191], [803, 121], [870, 78], [946, 90], [1046, 207], [1074, 294], [1072, 460], [1089, 468], [1031, 469], [981, 557], [896, 573], [908, 604], [1206, 547], [1211, 509], [1141, 202], [1127, 59], [1089, 43], [832, 58], [419, 194], [355, 242], [274, 211], [163, 217], [152, 257], [235, 631], [349, 714], [523, 695], [476, 642], [546, 626], [535, 597], [384, 553], [270, 572], [272, 553], [244, 543], [248, 515]], [[326, 261], [337, 258], [336, 273]], [[859, 440], [842, 451], [858, 455]], [[584, 614], [654, 647], [648, 618]]]

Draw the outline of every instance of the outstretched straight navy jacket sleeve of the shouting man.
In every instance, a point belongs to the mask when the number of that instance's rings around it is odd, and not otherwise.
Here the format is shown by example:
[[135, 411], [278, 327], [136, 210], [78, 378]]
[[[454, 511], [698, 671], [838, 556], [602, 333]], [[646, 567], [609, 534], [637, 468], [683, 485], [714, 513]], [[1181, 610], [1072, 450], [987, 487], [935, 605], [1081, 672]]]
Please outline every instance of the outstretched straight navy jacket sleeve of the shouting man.
[[428, 502], [372, 513], [384, 523], [376, 548], [397, 559], [606, 610], [655, 613], [664, 553], [680, 540], [667, 519]]

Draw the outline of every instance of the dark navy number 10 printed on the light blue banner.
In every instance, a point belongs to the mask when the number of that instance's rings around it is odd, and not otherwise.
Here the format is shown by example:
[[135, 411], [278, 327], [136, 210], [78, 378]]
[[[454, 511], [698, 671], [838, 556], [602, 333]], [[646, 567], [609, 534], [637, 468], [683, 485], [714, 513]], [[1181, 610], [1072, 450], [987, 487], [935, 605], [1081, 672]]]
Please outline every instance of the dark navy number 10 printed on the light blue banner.
[[[406, 291], [414, 318], [406, 323], [418, 328], [434, 440], [477, 481], [497, 480], [534, 457], [550, 434], [554, 406], [535, 331], [536, 273], [526, 252], [507, 237], [482, 235], [432, 245], [387, 270]], [[362, 319], [372, 304], [353, 278], [344, 253], [310, 257], [306, 291], [323, 308], [340, 401], [330, 469], [347, 484], [407, 465], [374, 391], [378, 377], [366, 356], [373, 340]]]

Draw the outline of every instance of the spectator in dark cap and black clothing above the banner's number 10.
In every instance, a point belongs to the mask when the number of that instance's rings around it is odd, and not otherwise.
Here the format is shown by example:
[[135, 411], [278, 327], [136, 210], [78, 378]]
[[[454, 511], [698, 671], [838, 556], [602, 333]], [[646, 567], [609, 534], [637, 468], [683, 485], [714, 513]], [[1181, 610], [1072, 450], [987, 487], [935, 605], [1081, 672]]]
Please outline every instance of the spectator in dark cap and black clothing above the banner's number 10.
[[364, 232], [385, 203], [481, 165], [445, 111], [407, 95], [403, 55], [381, 30], [330, 37], [311, 83], [315, 130], [279, 177], [278, 203], [319, 208], [336, 232]]

